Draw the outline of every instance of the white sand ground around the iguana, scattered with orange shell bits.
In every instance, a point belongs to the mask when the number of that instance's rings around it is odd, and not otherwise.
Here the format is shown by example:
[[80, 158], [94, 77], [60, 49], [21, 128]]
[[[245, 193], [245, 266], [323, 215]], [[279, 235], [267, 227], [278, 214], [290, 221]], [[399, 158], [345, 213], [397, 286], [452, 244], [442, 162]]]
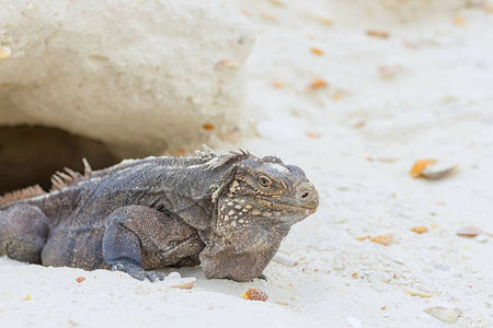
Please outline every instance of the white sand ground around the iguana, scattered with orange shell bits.
[[[197, 278], [182, 291], [167, 281], [0, 258], [0, 327], [493, 326], [493, 241], [455, 234], [469, 224], [493, 232], [493, 14], [462, 5], [399, 23], [380, 10], [386, 23], [377, 23], [344, 1], [333, 1], [341, 14], [328, 1], [310, 1], [310, 9], [282, 1], [241, 2], [259, 33], [248, 101], [262, 121], [240, 147], [303, 167], [319, 189], [319, 211], [280, 247], [297, 265], [272, 262], [268, 282], [251, 283], [181, 269]], [[460, 17], [463, 24], [454, 24]], [[390, 37], [368, 36], [369, 28]], [[307, 91], [314, 79], [329, 87]], [[459, 172], [438, 181], [411, 178], [414, 161], [428, 157]], [[393, 234], [390, 245], [355, 239], [381, 233]], [[268, 301], [242, 300], [248, 286], [266, 291]], [[443, 324], [423, 312], [432, 306], [463, 313]]]

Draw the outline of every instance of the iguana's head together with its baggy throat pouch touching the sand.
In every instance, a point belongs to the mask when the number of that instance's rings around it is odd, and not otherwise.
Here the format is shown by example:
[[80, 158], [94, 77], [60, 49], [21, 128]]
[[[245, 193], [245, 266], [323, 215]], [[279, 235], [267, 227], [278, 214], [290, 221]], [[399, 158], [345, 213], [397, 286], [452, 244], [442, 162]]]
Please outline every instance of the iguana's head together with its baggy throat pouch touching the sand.
[[249, 281], [259, 277], [289, 229], [319, 206], [319, 194], [301, 168], [248, 152], [216, 157], [236, 161], [215, 195], [216, 221], [200, 262], [207, 278]]

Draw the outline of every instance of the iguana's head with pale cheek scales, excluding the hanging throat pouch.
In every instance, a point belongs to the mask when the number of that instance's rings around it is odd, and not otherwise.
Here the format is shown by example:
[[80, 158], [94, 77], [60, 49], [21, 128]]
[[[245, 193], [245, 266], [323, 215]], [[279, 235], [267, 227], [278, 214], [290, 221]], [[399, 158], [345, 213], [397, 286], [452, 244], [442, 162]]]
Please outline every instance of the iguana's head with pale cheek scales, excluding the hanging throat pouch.
[[248, 157], [218, 203], [217, 224], [226, 234], [249, 226], [289, 226], [314, 213], [319, 194], [298, 166], [279, 159]]

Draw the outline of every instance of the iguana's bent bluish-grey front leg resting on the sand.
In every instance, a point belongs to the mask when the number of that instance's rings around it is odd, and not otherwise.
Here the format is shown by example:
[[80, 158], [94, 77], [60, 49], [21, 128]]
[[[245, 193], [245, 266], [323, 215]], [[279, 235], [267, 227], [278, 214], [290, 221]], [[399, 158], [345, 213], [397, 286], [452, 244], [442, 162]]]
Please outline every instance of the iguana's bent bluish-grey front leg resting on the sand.
[[127, 272], [138, 280], [163, 280], [163, 274], [144, 270], [142, 250], [161, 254], [162, 262], [156, 267], [163, 267], [170, 263], [170, 257], [173, 261], [180, 259], [173, 257], [175, 245], [183, 245], [194, 234], [194, 229], [158, 210], [122, 207], [106, 219], [103, 256], [112, 270]]

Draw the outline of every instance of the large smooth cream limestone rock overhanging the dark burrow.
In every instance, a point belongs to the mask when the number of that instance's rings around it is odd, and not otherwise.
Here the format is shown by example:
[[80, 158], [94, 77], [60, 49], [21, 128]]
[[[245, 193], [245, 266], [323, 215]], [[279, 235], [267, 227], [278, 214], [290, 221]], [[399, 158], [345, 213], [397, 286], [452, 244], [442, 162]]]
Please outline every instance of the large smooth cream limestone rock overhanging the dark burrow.
[[144, 153], [233, 129], [253, 32], [210, 0], [0, 0], [0, 126]]

